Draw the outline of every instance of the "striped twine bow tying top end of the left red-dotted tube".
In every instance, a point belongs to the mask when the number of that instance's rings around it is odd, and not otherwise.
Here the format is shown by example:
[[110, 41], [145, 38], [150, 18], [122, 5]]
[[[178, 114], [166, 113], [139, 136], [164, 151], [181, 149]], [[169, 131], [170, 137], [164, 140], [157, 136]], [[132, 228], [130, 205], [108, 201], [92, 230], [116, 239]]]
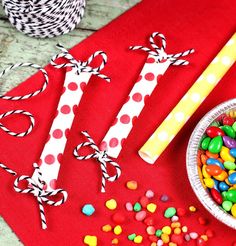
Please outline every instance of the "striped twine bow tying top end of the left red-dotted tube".
[[[96, 51], [93, 53], [87, 61], [79, 61], [76, 60], [69, 52], [67, 49], [65, 49], [61, 44], [57, 44], [57, 48], [62, 51], [62, 53], [55, 55], [51, 59], [51, 64], [56, 67], [56, 68], [63, 68], [63, 67], [74, 67], [77, 70], [77, 74], [80, 74], [81, 72], [87, 72], [91, 73], [93, 75], [96, 75], [102, 79], [105, 79], [107, 82], [110, 82], [110, 78], [108, 78], [106, 75], [101, 74], [100, 71], [105, 67], [107, 63], [107, 55], [103, 51]], [[95, 59], [95, 57], [101, 56], [102, 57], [102, 62], [98, 67], [91, 67], [89, 64]], [[57, 58], [66, 58], [69, 60], [69, 63], [62, 63], [62, 64], [57, 64], [55, 63], [55, 60]]]

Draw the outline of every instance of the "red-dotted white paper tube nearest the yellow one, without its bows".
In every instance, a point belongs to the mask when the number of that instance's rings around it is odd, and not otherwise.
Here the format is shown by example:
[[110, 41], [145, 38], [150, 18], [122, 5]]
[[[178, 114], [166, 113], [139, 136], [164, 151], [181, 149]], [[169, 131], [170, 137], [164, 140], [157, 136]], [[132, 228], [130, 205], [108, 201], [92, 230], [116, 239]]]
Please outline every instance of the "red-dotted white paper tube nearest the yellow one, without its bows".
[[169, 60], [157, 62], [157, 57], [153, 55], [147, 57], [138, 81], [100, 144], [100, 148], [106, 150], [109, 156], [118, 157], [123, 142], [145, 106], [146, 99], [151, 95], [158, 80], [170, 64]]

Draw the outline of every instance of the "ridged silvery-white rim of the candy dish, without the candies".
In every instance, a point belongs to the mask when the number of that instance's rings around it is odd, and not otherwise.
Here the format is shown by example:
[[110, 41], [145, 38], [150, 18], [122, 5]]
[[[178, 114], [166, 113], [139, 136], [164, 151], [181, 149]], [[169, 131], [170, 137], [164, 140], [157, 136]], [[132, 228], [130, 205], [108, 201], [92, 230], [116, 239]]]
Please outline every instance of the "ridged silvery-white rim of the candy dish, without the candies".
[[231, 99], [213, 108], [208, 112], [195, 127], [188, 143], [186, 165], [190, 184], [203, 206], [219, 221], [236, 229], [236, 218], [225, 212], [203, 187], [197, 169], [197, 152], [207, 127], [220, 115], [236, 110], [236, 99]]

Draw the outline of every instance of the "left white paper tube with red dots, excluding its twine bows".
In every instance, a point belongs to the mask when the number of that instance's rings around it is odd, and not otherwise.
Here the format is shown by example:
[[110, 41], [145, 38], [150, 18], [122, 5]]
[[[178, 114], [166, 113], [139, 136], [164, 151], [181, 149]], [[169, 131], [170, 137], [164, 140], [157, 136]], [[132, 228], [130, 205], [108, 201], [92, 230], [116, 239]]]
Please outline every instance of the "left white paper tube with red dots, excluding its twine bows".
[[[82, 72], [79, 75], [76, 69], [68, 68], [66, 72], [63, 92], [57, 107], [56, 116], [52, 123], [48, 141], [44, 146], [39, 159], [42, 180], [45, 181], [45, 190], [54, 190], [58, 177], [61, 158], [66, 146], [74, 112], [83, 95], [83, 89], [88, 83], [91, 73]], [[37, 173], [32, 177], [37, 181]]]

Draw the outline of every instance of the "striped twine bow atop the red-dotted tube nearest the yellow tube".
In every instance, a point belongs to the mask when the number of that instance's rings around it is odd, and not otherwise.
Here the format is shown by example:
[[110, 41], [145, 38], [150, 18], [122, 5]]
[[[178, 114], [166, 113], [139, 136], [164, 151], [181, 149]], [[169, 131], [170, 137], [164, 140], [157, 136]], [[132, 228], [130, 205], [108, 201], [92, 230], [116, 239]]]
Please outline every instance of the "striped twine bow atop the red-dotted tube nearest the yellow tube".
[[[154, 38], [155, 37], [160, 37], [161, 38], [161, 47], [158, 47], [158, 45], [156, 44]], [[145, 52], [147, 52], [148, 54], [152, 55], [152, 56], [156, 56], [157, 57], [157, 61], [161, 62], [163, 60], [169, 60], [171, 62], [172, 65], [176, 65], [176, 66], [180, 66], [180, 65], [188, 65], [189, 62], [183, 59], [179, 59], [180, 57], [183, 56], [187, 56], [191, 53], [194, 52], [194, 49], [189, 49], [186, 50], [184, 52], [180, 52], [177, 54], [169, 54], [167, 55], [167, 53], [165, 52], [166, 50], [166, 39], [165, 36], [159, 32], [154, 32], [150, 38], [149, 38], [150, 44], [152, 49], [149, 49], [147, 47], [144, 46], [130, 46], [131, 50], [143, 50]]]

